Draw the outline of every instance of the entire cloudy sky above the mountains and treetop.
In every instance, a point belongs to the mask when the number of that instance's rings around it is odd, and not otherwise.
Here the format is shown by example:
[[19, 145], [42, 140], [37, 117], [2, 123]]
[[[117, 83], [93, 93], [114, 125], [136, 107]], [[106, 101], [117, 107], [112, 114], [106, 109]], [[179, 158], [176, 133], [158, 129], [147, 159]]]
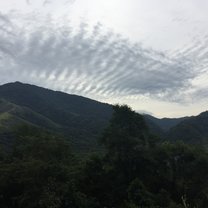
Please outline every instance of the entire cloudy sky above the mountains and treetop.
[[207, 0], [0, 0], [0, 84], [157, 117], [208, 110]]

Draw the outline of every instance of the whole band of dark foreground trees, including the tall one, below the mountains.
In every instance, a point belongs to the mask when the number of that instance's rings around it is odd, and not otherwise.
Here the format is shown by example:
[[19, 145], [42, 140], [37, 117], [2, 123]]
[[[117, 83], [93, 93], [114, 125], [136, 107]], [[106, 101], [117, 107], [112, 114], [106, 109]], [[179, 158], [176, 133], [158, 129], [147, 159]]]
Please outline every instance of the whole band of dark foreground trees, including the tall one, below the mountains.
[[208, 153], [162, 142], [128, 106], [114, 113], [86, 158], [50, 132], [24, 125], [10, 149], [0, 151], [2, 208], [204, 208], [208, 206]]

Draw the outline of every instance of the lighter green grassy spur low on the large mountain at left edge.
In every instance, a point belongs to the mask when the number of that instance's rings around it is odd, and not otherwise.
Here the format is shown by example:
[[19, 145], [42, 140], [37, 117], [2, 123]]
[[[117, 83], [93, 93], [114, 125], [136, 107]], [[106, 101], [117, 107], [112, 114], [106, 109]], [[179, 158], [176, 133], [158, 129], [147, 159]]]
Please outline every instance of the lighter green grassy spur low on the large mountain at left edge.
[[30, 126], [58, 132], [60, 127], [48, 118], [6, 100], [0, 99], [0, 143], [11, 146], [16, 137], [16, 129]]

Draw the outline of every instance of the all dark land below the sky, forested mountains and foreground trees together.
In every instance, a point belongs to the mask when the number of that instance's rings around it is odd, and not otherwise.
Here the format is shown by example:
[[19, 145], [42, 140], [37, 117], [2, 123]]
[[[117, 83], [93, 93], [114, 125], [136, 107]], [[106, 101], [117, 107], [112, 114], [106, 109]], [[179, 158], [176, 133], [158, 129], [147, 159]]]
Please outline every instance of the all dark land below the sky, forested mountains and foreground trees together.
[[0, 86], [0, 207], [208, 207], [207, 124]]

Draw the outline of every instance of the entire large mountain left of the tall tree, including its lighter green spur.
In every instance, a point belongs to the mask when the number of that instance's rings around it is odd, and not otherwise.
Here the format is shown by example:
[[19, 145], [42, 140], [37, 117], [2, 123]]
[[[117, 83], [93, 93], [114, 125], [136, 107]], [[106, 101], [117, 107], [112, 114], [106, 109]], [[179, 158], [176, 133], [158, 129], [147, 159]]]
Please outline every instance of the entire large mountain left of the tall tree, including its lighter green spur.
[[75, 145], [92, 146], [108, 124], [112, 106], [20, 82], [0, 86], [0, 129], [30, 124], [63, 133]]

